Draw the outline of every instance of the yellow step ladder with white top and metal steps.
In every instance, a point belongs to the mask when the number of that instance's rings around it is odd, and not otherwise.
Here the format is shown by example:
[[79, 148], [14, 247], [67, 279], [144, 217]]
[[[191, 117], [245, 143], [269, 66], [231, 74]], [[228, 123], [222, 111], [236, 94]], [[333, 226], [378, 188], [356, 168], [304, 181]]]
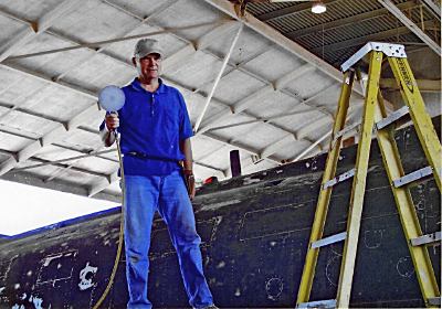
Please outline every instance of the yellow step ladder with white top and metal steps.
[[[357, 63], [369, 56], [369, 72], [366, 88], [366, 98], [360, 124], [360, 136], [356, 167], [335, 178], [336, 164], [339, 158], [341, 140], [345, 132], [345, 122], [349, 108], [349, 99], [355, 75], [360, 78]], [[399, 84], [406, 106], [387, 116], [382, 96], [379, 89], [382, 58], [386, 57]], [[330, 148], [323, 175], [320, 193], [316, 206], [315, 219], [308, 243], [303, 276], [297, 295], [298, 308], [348, 308], [351, 284], [355, 269], [356, 252], [358, 247], [359, 228], [362, 214], [364, 194], [369, 162], [372, 131], [375, 129], [381, 149], [391, 190], [394, 195], [401, 225], [407, 237], [408, 247], [413, 260], [417, 278], [427, 307], [440, 307], [441, 294], [434, 270], [431, 265], [427, 245], [440, 242], [441, 232], [422, 235], [408, 184], [422, 177], [433, 174], [441, 191], [442, 147], [434, 131], [430, 116], [425, 111], [422, 96], [407, 61], [403, 45], [388, 43], [367, 43], [354, 56], [341, 65], [344, 83], [336, 111], [335, 124], [330, 140]], [[424, 150], [429, 167], [410, 174], [404, 174], [400, 156], [396, 145], [393, 126], [404, 115], [410, 115]], [[350, 205], [347, 220], [347, 231], [323, 238], [327, 209], [333, 187], [346, 179], [354, 178]], [[315, 276], [319, 248], [339, 241], [344, 241], [344, 254], [340, 266], [339, 284], [336, 299], [311, 301], [309, 295]]]

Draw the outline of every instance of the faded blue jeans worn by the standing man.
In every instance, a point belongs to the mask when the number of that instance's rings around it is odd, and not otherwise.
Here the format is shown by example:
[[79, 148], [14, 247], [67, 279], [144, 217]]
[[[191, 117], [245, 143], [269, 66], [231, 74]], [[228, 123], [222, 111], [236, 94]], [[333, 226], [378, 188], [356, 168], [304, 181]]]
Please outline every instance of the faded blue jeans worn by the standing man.
[[190, 306], [213, 303], [202, 270], [201, 238], [197, 234], [192, 205], [179, 171], [169, 175], [125, 177], [127, 308], [150, 309], [147, 298], [149, 246], [154, 214], [158, 210], [166, 222], [178, 254], [181, 277]]

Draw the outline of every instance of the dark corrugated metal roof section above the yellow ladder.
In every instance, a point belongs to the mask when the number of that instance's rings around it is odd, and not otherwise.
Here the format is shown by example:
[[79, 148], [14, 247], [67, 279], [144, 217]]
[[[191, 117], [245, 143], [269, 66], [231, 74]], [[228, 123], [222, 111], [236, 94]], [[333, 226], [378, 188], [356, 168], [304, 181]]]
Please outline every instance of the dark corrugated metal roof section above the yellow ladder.
[[[378, 41], [401, 43], [398, 39], [406, 33], [412, 33], [410, 30], [404, 31], [404, 25], [379, 1], [334, 0], [325, 2], [327, 11], [324, 14], [314, 14], [305, 2], [296, 1], [284, 2], [286, 4], [284, 7], [276, 6], [276, 3], [251, 2], [246, 8], [257, 19], [263, 20], [281, 33], [287, 34], [290, 39], [337, 67], [346, 60], [347, 55], [368, 41], [377, 41], [378, 38]], [[428, 24], [433, 21], [440, 29], [440, 22], [434, 13], [422, 3], [407, 0], [392, 2], [418, 26], [422, 28], [422, 22]], [[302, 9], [297, 10], [296, 8]], [[287, 13], [287, 9], [293, 10]], [[350, 22], [346, 22], [346, 20]], [[312, 28], [314, 31], [309, 31]], [[400, 31], [394, 33], [397, 29]], [[425, 26], [423, 29], [427, 35], [440, 42], [439, 34], [433, 30], [429, 31]], [[367, 40], [361, 40], [365, 36], [368, 36]], [[340, 47], [336, 45], [336, 43], [346, 41], [348, 44], [343, 44]], [[411, 42], [415, 42], [415, 40]], [[343, 52], [343, 49], [348, 52]]]

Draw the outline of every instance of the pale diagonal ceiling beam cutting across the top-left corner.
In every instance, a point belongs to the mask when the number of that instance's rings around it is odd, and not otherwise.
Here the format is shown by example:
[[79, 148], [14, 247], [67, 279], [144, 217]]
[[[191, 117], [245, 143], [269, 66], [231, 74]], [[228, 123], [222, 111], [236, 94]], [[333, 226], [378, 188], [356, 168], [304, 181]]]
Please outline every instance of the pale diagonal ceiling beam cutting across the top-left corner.
[[0, 62], [9, 57], [11, 54], [19, 51], [23, 45], [25, 45], [29, 41], [34, 39], [40, 33], [44, 32], [49, 29], [53, 22], [72, 11], [76, 7], [81, 4], [82, 1], [75, 0], [64, 0], [53, 8], [51, 11], [45, 13], [38, 22], [32, 23], [32, 26], [27, 26], [19, 34], [12, 36], [8, 42], [2, 44], [0, 50]]

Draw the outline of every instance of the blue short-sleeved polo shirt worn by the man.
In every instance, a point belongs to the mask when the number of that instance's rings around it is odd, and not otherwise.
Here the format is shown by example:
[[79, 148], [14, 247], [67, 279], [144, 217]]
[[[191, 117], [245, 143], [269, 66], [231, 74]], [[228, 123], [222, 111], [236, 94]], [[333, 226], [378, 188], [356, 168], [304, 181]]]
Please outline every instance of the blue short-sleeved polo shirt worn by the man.
[[138, 78], [123, 92], [126, 102], [118, 110], [118, 131], [125, 174], [166, 175], [179, 170], [178, 161], [185, 159], [179, 143], [193, 136], [181, 93], [161, 79], [158, 89], [150, 93]]

